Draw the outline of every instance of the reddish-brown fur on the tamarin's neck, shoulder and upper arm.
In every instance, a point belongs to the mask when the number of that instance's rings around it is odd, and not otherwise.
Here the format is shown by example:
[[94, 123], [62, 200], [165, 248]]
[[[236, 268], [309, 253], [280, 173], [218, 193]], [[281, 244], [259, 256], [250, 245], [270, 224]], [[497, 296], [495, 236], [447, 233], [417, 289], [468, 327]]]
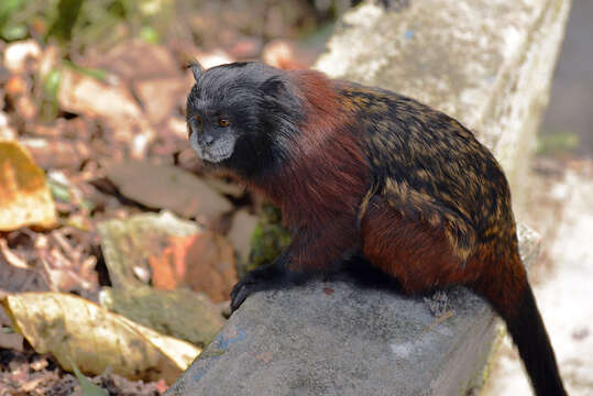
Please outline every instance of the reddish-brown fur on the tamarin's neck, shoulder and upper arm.
[[255, 187], [281, 207], [284, 222], [298, 230], [293, 270], [323, 270], [358, 244], [355, 218], [370, 170], [347, 114], [339, 111], [331, 80], [316, 72], [292, 76], [306, 105], [306, 121], [284, 168]]

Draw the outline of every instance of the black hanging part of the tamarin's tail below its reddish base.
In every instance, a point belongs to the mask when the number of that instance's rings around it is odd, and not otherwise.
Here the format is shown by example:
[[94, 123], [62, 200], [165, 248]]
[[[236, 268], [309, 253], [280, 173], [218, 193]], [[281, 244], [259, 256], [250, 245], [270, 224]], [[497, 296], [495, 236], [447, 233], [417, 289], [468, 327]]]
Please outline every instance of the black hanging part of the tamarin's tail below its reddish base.
[[[523, 271], [515, 272], [515, 282], [501, 283], [501, 287], [493, 287], [492, 279], [487, 288], [476, 287], [479, 292], [493, 305], [494, 309], [506, 322], [508, 333], [517, 345], [525, 370], [531, 380], [537, 396], [565, 396], [556, 356], [546, 332], [546, 327], [537, 308], [536, 299], [527, 276]], [[516, 271], [516, 268], [515, 268]], [[519, 275], [523, 279], [517, 279]], [[514, 283], [510, 286], [510, 283]], [[513, 296], [513, 289], [523, 284], [519, 294]], [[510, 302], [510, 304], [509, 304]]]

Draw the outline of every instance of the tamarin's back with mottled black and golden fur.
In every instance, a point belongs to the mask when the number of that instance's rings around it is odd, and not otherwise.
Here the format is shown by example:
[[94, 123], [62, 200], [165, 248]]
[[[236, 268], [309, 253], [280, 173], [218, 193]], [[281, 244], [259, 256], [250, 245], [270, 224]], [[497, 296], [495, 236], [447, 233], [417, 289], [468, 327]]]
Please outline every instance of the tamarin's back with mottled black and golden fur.
[[352, 103], [354, 132], [380, 178], [373, 188], [394, 207], [424, 220], [451, 211], [468, 228], [462, 245], [515, 235], [508, 183], [472, 132], [395, 92], [348, 82], [338, 90]]

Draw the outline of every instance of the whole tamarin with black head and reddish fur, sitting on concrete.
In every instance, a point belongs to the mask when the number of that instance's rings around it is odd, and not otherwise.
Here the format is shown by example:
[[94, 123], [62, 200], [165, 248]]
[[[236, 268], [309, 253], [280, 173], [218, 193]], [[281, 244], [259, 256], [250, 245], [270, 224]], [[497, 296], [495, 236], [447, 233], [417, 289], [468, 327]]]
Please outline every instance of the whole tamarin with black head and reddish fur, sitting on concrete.
[[252, 293], [362, 254], [407, 293], [465, 285], [505, 320], [538, 396], [565, 395], [519, 257], [507, 180], [454, 119], [414, 99], [260, 63], [191, 69], [189, 140], [275, 202], [294, 231]]

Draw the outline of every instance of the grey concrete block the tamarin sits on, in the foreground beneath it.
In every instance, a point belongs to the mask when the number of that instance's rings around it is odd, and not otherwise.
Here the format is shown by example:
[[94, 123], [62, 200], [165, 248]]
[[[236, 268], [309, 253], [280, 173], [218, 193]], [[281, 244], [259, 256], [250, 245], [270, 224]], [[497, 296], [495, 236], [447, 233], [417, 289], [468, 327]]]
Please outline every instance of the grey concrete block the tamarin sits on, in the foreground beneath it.
[[[520, 232], [525, 262], [538, 237]], [[440, 321], [424, 297], [316, 282], [259, 293], [166, 395], [461, 395], [480, 387], [495, 315], [474, 294], [447, 292]]]

